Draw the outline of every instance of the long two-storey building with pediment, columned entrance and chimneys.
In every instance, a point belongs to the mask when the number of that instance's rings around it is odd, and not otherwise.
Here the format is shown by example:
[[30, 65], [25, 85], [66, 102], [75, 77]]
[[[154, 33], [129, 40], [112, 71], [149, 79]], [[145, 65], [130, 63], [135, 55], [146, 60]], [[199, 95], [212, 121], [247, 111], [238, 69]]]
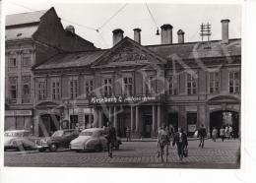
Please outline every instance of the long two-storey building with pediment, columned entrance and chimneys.
[[192, 136], [201, 124], [232, 125], [240, 132], [241, 39], [185, 42], [172, 26], [161, 27], [161, 44], [141, 45], [113, 30], [113, 47], [60, 53], [32, 69], [34, 133], [48, 136], [59, 128], [105, 126], [120, 137], [155, 137], [162, 125], [183, 127]]

